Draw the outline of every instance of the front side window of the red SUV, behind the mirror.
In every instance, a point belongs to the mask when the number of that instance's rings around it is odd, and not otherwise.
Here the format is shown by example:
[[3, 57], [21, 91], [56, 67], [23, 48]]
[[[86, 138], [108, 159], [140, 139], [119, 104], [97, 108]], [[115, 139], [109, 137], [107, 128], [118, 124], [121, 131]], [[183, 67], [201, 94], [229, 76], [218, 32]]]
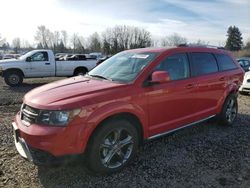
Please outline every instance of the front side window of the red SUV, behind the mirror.
[[168, 56], [156, 68], [155, 71], [166, 71], [171, 80], [181, 80], [189, 77], [189, 62], [186, 54]]

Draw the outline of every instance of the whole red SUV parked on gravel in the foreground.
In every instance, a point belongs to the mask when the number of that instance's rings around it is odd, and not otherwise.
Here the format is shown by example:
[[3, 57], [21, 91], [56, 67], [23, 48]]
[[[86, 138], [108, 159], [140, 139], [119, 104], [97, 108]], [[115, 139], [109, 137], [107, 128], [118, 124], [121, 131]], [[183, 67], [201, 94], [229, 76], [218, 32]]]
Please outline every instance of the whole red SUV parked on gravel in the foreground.
[[242, 79], [243, 70], [222, 49], [124, 51], [85, 76], [27, 93], [13, 122], [15, 145], [35, 164], [84, 153], [91, 170], [116, 172], [143, 140], [215, 116], [232, 125]]

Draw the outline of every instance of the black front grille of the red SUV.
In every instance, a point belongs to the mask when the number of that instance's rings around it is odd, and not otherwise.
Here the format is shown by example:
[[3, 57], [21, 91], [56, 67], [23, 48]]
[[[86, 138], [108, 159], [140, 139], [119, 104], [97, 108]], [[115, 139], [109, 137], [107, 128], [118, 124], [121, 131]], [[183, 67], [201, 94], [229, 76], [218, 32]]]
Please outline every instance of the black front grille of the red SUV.
[[39, 110], [31, 106], [23, 104], [21, 107], [21, 120], [26, 126], [30, 126], [32, 123], [36, 122], [39, 115]]

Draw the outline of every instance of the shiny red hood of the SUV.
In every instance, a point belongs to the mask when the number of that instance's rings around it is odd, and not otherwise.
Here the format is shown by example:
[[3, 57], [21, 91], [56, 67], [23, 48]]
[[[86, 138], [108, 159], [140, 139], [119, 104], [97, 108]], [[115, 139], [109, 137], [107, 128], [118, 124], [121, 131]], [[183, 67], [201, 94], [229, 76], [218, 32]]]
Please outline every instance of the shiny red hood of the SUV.
[[[93, 98], [111, 89], [125, 86], [106, 80], [72, 77], [35, 88], [24, 96], [24, 103], [39, 109], [77, 108], [93, 102]], [[102, 98], [102, 96], [99, 97]], [[87, 100], [85, 100], [87, 99]]]

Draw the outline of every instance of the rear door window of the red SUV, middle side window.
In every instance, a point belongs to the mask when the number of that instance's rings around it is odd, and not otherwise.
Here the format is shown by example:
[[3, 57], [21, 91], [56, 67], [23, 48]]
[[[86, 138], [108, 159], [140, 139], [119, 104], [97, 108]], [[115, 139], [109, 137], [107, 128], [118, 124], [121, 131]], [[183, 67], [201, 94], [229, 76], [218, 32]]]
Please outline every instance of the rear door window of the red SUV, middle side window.
[[190, 54], [192, 62], [192, 76], [200, 76], [218, 72], [218, 65], [210, 53], [194, 52]]

